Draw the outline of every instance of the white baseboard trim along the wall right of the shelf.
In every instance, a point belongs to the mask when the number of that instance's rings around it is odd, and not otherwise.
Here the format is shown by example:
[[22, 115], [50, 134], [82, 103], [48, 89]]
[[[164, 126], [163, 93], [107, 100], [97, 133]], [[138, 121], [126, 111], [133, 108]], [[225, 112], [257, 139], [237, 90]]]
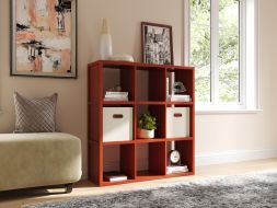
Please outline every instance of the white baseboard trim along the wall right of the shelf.
[[196, 154], [196, 166], [277, 158], [277, 149], [238, 150]]

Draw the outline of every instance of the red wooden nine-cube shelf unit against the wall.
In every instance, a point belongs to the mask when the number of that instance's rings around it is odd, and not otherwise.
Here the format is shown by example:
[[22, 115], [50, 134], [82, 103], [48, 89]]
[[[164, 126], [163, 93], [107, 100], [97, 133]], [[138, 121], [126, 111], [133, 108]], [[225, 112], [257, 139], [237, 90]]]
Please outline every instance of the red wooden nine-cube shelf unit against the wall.
[[[186, 86], [192, 102], [166, 101], [166, 78], [175, 73], [176, 81]], [[129, 92], [129, 101], [104, 101], [104, 92], [116, 80], [123, 91]], [[116, 74], [116, 76], [114, 76]], [[106, 77], [107, 76], [107, 77]], [[112, 82], [111, 81], [111, 82]], [[194, 67], [151, 65], [129, 61], [97, 60], [88, 65], [88, 164], [89, 180], [99, 186], [111, 186], [161, 180], [166, 177], [195, 174], [195, 72]], [[113, 83], [115, 84], [115, 83]], [[109, 86], [111, 88], [111, 86]], [[166, 107], [189, 107], [189, 137], [166, 138]], [[132, 107], [132, 138], [128, 141], [103, 142], [103, 107]], [[141, 113], [149, 111], [158, 120], [153, 139], [137, 138], [137, 119]], [[168, 153], [171, 142], [181, 152], [181, 162], [188, 166], [187, 173], [166, 174]], [[140, 171], [139, 154], [147, 150], [148, 167]], [[109, 151], [112, 149], [113, 151]], [[116, 151], [115, 151], [116, 150]], [[141, 152], [142, 151], [142, 152]], [[109, 152], [118, 159], [117, 166], [128, 180], [108, 182], [103, 178], [106, 172], [105, 158]], [[109, 155], [111, 157], [111, 155]], [[145, 160], [145, 159], [143, 159]]]

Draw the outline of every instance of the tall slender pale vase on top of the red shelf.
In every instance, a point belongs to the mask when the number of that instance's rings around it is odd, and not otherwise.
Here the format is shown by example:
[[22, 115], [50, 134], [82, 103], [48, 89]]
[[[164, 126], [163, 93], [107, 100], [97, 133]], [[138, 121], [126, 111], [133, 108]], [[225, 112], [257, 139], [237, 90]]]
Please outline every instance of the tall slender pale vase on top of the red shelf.
[[103, 25], [100, 38], [100, 57], [102, 60], [108, 60], [113, 56], [112, 36], [107, 19], [103, 19]]

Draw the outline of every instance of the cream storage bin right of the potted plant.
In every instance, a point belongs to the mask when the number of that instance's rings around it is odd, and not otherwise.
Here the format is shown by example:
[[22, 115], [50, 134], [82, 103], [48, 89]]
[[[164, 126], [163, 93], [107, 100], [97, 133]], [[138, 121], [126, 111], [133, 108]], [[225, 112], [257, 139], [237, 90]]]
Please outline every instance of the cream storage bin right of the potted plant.
[[166, 138], [189, 137], [189, 107], [166, 108]]

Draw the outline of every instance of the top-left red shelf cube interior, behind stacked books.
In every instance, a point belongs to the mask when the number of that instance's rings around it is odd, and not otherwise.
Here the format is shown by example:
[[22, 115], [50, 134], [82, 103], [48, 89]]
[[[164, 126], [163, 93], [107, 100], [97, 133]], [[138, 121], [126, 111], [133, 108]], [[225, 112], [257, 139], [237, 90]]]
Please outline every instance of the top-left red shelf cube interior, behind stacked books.
[[122, 92], [128, 92], [128, 101], [135, 101], [134, 67], [103, 68], [103, 99], [107, 91], [116, 90], [116, 86], [120, 86]]

